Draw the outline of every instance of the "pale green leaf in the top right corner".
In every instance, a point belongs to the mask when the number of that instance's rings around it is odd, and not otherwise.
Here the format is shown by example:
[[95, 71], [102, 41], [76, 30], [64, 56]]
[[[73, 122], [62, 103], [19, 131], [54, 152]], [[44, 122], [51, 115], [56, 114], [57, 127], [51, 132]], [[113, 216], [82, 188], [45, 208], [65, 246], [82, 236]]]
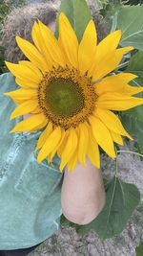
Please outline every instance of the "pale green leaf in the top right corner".
[[132, 45], [143, 51], [143, 6], [124, 7], [118, 12], [117, 29], [122, 31], [121, 46]]

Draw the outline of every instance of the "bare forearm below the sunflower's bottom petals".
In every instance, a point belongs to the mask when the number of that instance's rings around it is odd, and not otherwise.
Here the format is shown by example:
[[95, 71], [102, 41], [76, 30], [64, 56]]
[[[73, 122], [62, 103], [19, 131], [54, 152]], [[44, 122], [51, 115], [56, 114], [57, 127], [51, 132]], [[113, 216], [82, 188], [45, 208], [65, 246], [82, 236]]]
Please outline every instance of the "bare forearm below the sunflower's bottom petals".
[[62, 210], [74, 223], [87, 224], [99, 214], [105, 203], [101, 171], [92, 166], [77, 164], [71, 173], [66, 168], [62, 185]]

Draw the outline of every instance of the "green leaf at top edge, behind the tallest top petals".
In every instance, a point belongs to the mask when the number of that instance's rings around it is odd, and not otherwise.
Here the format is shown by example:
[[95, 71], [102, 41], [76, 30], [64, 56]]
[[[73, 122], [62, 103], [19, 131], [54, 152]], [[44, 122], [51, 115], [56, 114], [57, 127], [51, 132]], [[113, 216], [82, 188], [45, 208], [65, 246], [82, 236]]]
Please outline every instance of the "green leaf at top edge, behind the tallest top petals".
[[[85, 0], [62, 0], [60, 12], [64, 12], [74, 29], [79, 42], [81, 41], [82, 35], [90, 21], [92, 19], [92, 13]], [[58, 37], [59, 27], [59, 13], [56, 19], [55, 35]], [[66, 33], [66, 32], [65, 32]]]

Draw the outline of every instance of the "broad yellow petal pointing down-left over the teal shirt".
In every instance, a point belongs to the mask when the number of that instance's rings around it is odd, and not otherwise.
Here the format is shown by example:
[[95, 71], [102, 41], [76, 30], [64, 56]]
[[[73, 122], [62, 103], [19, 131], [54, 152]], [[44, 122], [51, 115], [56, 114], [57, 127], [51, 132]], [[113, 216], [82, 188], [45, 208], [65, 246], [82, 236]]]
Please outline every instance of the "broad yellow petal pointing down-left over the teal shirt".
[[46, 139], [44, 146], [38, 154], [37, 162], [41, 163], [50, 153], [54, 151], [61, 139], [61, 128], [54, 128], [51, 134]]

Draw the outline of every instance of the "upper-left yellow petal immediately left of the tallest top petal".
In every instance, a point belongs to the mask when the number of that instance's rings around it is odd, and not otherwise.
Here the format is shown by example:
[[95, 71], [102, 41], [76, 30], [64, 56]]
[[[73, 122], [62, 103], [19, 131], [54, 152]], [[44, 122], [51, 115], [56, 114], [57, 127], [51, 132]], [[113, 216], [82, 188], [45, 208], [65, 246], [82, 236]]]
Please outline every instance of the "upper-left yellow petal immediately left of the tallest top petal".
[[58, 45], [58, 41], [55, 38], [55, 36], [52, 34], [51, 30], [45, 26], [41, 21], [39, 21], [39, 27], [41, 31], [41, 35], [43, 38], [43, 44], [45, 44], [45, 47], [47, 49], [48, 60], [51, 58], [51, 63], [54, 65], [54, 63], [64, 67], [65, 61], [62, 55], [62, 51]]

